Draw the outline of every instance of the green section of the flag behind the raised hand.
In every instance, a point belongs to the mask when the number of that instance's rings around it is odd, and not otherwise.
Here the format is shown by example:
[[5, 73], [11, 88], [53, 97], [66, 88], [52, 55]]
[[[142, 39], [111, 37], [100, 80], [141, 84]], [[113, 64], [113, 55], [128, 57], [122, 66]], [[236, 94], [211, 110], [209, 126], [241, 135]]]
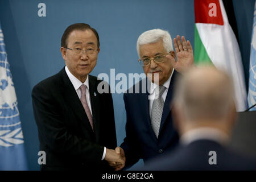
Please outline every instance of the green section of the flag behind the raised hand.
[[212, 64], [210, 57], [208, 56], [207, 51], [205, 50], [204, 44], [202, 43], [199, 32], [197, 31], [195, 25], [195, 53], [194, 53], [195, 64]]

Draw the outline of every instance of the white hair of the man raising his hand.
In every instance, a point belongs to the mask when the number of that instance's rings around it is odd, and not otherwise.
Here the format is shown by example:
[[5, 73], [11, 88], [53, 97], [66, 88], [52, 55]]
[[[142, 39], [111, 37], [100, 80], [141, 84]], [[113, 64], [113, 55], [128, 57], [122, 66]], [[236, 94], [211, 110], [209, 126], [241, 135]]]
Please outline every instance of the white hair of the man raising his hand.
[[152, 30], [143, 32], [139, 36], [137, 40], [138, 56], [139, 56], [139, 46], [143, 44], [155, 43], [161, 39], [163, 40], [164, 49], [166, 49], [167, 52], [171, 52], [174, 50], [174, 47], [172, 46], [172, 38], [168, 31], [161, 30], [161, 29], [152, 29]]

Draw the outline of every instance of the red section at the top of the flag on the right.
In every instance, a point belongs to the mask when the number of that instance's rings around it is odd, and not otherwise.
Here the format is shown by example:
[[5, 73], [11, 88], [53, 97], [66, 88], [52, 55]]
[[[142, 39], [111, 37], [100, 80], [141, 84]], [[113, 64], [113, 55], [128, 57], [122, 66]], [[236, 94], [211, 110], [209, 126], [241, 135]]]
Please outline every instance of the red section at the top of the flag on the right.
[[195, 0], [196, 23], [212, 23], [224, 25], [218, 0]]

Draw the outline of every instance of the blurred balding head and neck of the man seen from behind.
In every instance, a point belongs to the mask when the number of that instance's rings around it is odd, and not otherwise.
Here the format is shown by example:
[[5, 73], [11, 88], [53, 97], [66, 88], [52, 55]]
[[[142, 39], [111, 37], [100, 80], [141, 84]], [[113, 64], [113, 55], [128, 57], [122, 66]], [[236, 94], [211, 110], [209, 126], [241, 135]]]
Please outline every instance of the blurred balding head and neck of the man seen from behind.
[[214, 127], [230, 134], [236, 115], [233, 83], [214, 67], [193, 68], [177, 80], [173, 110], [182, 135], [197, 127]]

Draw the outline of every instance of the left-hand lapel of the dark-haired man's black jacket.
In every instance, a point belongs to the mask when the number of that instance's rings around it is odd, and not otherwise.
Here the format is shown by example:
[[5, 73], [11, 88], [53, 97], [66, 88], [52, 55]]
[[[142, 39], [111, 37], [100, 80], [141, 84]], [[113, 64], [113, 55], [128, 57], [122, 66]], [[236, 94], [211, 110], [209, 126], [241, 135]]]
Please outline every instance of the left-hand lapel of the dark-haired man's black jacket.
[[65, 68], [61, 71], [61, 77], [63, 78], [64, 82], [64, 89], [63, 89], [63, 96], [64, 100], [67, 102], [67, 105], [73, 110], [73, 113], [80, 119], [82, 125], [86, 127], [86, 129], [93, 134], [92, 127], [90, 126], [89, 119], [85, 113], [84, 107], [82, 107], [82, 103], [77, 96], [76, 90], [72, 85], [72, 82], [69, 80], [67, 73], [65, 72]]

